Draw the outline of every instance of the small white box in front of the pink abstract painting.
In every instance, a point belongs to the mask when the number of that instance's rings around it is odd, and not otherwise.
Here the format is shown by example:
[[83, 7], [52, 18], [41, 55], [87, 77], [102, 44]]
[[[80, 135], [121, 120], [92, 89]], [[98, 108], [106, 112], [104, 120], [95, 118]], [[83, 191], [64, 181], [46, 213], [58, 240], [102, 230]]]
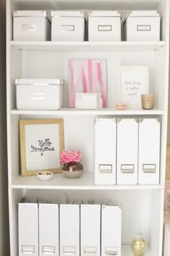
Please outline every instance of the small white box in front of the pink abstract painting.
[[101, 93], [76, 93], [76, 108], [102, 108]]

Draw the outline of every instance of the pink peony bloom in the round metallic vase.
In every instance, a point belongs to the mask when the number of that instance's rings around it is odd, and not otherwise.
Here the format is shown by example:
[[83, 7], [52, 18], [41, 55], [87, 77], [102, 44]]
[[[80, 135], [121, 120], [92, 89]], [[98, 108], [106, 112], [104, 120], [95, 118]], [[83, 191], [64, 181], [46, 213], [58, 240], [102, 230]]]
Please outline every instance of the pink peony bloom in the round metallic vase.
[[81, 151], [75, 151], [75, 150], [63, 150], [61, 151], [61, 163], [72, 163], [76, 162], [79, 163], [82, 158]]

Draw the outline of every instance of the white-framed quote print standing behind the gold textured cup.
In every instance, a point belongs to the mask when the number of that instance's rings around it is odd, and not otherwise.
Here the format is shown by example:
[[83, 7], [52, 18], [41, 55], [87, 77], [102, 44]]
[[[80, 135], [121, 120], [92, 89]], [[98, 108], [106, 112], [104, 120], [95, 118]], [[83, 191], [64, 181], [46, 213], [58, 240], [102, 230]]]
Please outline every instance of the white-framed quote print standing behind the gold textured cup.
[[117, 103], [127, 108], [141, 108], [141, 94], [148, 94], [148, 67], [117, 68]]

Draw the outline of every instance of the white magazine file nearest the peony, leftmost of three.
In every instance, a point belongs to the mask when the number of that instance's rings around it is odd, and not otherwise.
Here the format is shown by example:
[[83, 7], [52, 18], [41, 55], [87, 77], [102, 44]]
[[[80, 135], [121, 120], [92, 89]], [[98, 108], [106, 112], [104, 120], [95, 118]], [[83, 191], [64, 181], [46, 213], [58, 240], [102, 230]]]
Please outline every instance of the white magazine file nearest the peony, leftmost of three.
[[116, 183], [116, 119], [97, 118], [95, 129], [95, 184]]

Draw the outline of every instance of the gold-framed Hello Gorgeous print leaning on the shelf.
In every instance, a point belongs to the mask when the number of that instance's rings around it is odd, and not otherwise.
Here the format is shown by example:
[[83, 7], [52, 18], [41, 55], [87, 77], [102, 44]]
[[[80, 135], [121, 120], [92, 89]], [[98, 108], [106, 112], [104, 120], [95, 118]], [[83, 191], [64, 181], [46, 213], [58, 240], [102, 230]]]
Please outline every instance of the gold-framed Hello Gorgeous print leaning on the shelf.
[[20, 120], [19, 130], [22, 176], [47, 170], [61, 173], [63, 119]]

